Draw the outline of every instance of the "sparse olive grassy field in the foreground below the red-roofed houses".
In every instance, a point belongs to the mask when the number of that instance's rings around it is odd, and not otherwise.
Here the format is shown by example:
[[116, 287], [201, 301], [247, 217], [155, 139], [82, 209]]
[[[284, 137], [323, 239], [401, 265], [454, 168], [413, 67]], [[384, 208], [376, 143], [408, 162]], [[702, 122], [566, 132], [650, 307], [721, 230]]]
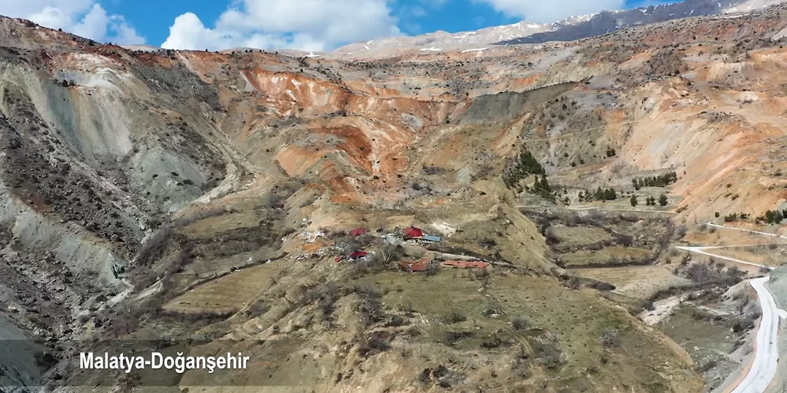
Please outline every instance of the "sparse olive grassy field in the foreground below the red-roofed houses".
[[[384, 293], [384, 304], [410, 314], [421, 332], [411, 340], [419, 345], [439, 342], [466, 357], [501, 362], [525, 348], [532, 369], [523, 391], [544, 389], [534, 386], [539, 380], [560, 380], [567, 391], [626, 385], [669, 390], [660, 372], [646, 365], [659, 363], [658, 358], [677, 359], [660, 336], [634, 329], [630, 314], [600, 303], [591, 292], [563, 288], [556, 280], [494, 273], [478, 280], [442, 270], [432, 277], [383, 273], [357, 284]], [[605, 345], [601, 337], [608, 331], [614, 331], [619, 342]], [[514, 373], [512, 362], [503, 362], [495, 376]], [[588, 373], [593, 376], [588, 378]]]

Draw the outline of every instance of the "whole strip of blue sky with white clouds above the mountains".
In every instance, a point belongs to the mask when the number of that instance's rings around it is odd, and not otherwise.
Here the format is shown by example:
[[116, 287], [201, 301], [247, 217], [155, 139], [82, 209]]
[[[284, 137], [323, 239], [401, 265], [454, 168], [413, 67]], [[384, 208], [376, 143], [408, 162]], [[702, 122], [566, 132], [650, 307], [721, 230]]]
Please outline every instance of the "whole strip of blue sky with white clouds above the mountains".
[[331, 50], [349, 42], [548, 23], [643, 0], [0, 0], [24, 17], [98, 41], [174, 49]]

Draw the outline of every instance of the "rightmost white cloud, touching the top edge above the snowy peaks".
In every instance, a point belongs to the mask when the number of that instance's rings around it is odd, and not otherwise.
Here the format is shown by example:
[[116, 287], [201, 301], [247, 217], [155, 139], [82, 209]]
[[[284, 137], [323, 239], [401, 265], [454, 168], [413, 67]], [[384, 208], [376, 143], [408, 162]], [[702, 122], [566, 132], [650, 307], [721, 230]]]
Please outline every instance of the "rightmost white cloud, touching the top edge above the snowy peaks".
[[537, 23], [550, 23], [567, 17], [623, 9], [625, 0], [476, 0], [489, 4], [507, 17]]

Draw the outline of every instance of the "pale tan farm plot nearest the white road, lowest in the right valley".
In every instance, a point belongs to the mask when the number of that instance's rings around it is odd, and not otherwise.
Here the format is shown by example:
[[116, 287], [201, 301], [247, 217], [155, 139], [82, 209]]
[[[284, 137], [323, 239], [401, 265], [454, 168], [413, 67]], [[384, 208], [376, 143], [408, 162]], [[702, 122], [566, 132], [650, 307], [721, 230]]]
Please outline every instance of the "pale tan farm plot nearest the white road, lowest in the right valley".
[[621, 266], [572, 269], [578, 276], [615, 285], [615, 292], [635, 299], [647, 299], [667, 288], [692, 285], [692, 281], [672, 274], [663, 266]]

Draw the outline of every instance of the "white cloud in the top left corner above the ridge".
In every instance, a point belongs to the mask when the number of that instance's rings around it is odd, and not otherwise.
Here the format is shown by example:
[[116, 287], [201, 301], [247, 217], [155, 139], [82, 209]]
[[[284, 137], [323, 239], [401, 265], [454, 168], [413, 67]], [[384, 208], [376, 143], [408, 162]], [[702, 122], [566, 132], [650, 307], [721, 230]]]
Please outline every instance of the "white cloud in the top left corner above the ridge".
[[145, 43], [124, 17], [108, 14], [95, 0], [0, 0], [0, 14], [32, 20], [46, 28], [61, 28], [99, 42]]

